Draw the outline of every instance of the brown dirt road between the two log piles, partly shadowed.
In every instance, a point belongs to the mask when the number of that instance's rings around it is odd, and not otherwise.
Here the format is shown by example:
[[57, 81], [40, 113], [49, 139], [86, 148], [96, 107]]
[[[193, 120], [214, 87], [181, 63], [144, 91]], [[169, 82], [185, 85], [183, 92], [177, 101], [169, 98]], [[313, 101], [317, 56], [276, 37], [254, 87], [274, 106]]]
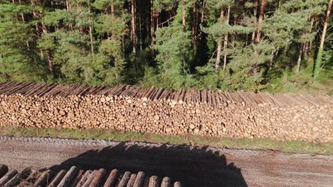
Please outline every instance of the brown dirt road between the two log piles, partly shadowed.
[[333, 186], [333, 156], [141, 142], [0, 137], [0, 163], [146, 171], [183, 186]]

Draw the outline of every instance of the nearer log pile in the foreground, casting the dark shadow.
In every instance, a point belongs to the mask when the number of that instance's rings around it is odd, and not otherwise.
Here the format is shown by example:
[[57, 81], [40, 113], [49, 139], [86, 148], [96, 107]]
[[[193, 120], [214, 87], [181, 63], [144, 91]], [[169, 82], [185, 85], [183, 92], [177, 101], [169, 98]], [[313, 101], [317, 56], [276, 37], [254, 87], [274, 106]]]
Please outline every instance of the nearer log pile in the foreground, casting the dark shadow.
[[72, 166], [68, 171], [35, 171], [29, 167], [22, 171], [0, 164], [0, 186], [36, 186], [36, 187], [181, 187], [179, 181], [171, 185], [169, 177], [146, 176], [143, 171], [131, 174], [120, 173], [117, 169], [83, 171]]

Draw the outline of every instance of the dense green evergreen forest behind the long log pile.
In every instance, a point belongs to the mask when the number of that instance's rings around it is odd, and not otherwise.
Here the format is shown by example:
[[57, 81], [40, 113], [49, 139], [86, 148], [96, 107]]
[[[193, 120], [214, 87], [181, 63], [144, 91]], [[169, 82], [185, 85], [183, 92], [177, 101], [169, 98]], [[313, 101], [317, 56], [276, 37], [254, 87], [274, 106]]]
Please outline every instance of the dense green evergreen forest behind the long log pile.
[[0, 81], [332, 94], [332, 0], [0, 0]]

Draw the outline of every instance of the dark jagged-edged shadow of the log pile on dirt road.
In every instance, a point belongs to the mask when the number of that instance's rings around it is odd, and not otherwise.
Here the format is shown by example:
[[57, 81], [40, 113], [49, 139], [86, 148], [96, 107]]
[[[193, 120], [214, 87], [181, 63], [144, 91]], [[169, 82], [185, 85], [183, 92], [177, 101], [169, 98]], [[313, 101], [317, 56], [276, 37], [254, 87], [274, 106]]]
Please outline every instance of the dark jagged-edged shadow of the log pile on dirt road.
[[233, 163], [228, 164], [224, 155], [207, 147], [144, 147], [119, 143], [112, 147], [91, 149], [52, 166], [51, 170], [70, 169], [70, 166], [84, 170], [144, 171], [147, 176], [169, 176], [171, 181], [181, 181], [183, 186], [247, 186], [240, 169]]

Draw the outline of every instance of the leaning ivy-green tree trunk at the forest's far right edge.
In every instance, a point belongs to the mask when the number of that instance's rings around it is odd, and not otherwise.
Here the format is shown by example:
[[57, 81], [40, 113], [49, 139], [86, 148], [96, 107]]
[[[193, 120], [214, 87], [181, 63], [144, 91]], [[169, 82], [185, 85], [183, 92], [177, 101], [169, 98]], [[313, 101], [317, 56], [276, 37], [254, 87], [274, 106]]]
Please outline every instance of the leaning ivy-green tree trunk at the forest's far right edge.
[[320, 40], [320, 45], [319, 45], [319, 50], [317, 54], [317, 60], [316, 64], [314, 65], [314, 74], [313, 77], [314, 79], [318, 79], [319, 76], [319, 70], [322, 66], [322, 53], [324, 52], [324, 41], [325, 41], [325, 35], [327, 32], [327, 25], [329, 23], [329, 14], [331, 13], [331, 8], [332, 8], [332, 0], [329, 1], [328, 7], [327, 7], [327, 13], [326, 13], [326, 18], [325, 18], [325, 23], [324, 23], [324, 28], [322, 30], [322, 38]]

